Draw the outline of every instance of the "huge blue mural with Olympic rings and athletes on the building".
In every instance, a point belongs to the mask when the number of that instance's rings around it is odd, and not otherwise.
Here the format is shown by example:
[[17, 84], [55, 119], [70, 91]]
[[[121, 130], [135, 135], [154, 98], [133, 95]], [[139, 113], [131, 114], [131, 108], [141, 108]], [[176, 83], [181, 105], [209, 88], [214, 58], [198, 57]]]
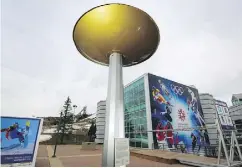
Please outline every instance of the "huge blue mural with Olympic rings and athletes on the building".
[[165, 144], [168, 148], [182, 146], [182, 152], [199, 153], [209, 144], [207, 131], [197, 128], [205, 126], [197, 89], [151, 74], [149, 89], [155, 148]]

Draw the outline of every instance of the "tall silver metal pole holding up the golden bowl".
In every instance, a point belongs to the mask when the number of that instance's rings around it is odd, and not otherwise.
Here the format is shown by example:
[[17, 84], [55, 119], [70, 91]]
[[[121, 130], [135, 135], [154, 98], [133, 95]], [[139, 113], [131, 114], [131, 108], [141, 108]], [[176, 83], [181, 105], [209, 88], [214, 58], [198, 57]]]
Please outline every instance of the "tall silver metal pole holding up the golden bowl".
[[124, 138], [122, 55], [109, 56], [108, 93], [102, 167], [114, 167], [114, 140]]

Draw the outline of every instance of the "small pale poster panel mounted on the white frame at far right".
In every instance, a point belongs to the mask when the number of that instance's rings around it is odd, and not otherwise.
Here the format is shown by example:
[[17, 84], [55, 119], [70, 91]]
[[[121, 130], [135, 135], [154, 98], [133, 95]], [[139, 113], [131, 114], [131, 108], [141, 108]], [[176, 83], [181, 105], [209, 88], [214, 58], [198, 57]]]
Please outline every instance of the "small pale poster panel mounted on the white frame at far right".
[[219, 122], [221, 124], [222, 129], [224, 130], [234, 129], [234, 125], [228, 111], [227, 103], [216, 100], [215, 106], [216, 106]]

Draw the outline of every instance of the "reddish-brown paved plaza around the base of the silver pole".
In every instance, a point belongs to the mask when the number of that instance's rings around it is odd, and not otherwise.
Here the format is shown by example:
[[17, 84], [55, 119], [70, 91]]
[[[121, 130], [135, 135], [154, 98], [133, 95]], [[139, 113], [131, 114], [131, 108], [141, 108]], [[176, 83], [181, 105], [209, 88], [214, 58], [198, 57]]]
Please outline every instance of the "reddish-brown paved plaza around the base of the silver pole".
[[[85, 151], [80, 145], [58, 145], [56, 158], [52, 158], [54, 146], [40, 145], [36, 167], [101, 167], [102, 149]], [[128, 167], [187, 167], [181, 164], [165, 164], [136, 156], [130, 157]]]

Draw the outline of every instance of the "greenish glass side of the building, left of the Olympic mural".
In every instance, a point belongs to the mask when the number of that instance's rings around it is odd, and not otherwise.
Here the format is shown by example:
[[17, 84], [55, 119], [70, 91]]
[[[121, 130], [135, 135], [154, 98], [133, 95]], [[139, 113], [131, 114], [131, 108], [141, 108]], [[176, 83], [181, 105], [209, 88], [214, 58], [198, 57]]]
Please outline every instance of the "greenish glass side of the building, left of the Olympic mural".
[[[148, 148], [147, 102], [145, 77], [138, 78], [124, 88], [125, 137], [130, 139], [130, 146]], [[138, 132], [138, 133], [136, 133]], [[140, 133], [144, 132], [144, 133]]]

